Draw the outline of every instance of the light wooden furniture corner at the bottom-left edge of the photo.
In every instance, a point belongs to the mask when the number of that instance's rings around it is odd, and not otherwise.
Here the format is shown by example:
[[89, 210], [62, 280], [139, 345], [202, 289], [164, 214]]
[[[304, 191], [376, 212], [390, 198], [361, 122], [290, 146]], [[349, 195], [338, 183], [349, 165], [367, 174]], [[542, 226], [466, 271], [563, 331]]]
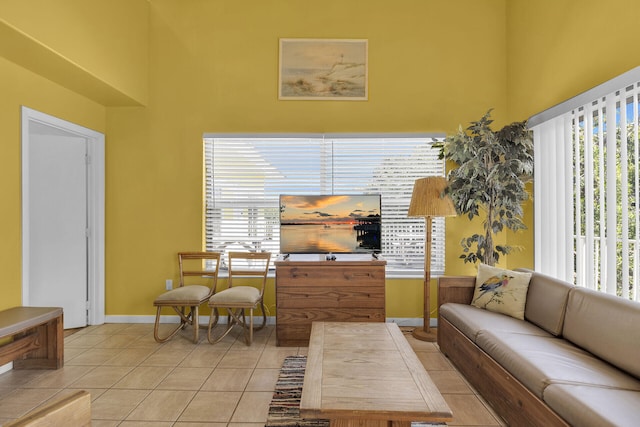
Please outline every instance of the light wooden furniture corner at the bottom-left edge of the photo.
[[27, 415], [5, 424], [4, 427], [82, 427], [90, 425], [91, 394], [80, 390], [34, 409]]

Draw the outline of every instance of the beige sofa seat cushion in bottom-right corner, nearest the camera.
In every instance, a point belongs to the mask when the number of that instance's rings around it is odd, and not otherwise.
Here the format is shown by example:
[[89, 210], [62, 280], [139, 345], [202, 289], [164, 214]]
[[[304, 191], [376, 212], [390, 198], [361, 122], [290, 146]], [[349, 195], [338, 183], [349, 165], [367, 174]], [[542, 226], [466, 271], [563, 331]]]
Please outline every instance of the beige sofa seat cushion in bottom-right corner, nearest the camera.
[[635, 427], [640, 392], [574, 384], [552, 384], [544, 401], [569, 424], [584, 427]]

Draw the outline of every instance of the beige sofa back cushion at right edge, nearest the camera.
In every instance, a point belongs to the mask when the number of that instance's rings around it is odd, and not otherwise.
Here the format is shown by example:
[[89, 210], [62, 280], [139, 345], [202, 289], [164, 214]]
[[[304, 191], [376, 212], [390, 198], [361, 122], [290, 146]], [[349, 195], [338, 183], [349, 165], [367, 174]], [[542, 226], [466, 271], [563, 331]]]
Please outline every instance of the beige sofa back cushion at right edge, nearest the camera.
[[569, 294], [563, 336], [640, 378], [640, 303], [576, 287]]

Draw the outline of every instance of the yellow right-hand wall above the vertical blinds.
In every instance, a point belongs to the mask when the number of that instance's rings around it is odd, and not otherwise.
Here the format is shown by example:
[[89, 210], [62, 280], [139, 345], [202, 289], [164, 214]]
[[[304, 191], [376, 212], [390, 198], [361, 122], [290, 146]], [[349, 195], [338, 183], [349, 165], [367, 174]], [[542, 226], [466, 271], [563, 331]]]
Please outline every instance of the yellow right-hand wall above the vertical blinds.
[[[509, 121], [523, 120], [640, 65], [635, 0], [507, 1]], [[533, 204], [526, 233], [509, 233], [525, 250], [509, 267], [533, 267]]]

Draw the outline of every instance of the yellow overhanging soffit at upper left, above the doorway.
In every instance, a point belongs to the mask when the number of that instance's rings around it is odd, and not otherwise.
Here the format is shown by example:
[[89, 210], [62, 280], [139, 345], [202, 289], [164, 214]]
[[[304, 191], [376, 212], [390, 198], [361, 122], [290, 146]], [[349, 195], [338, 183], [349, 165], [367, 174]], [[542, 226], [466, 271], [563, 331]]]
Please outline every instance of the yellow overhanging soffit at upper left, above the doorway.
[[147, 101], [146, 0], [0, 0], [0, 56], [106, 106]]

